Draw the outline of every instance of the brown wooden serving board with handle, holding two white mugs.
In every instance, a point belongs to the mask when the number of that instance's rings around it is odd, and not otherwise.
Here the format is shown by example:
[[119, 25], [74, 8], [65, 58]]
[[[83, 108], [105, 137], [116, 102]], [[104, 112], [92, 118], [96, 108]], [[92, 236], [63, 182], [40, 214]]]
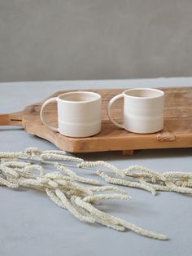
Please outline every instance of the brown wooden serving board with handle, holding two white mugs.
[[[23, 126], [29, 134], [37, 135], [54, 143], [67, 152], [104, 152], [122, 150], [131, 153], [135, 149], [147, 148], [190, 148], [192, 147], [192, 87], [160, 88], [165, 92], [164, 130], [151, 135], [138, 135], [114, 126], [107, 117], [107, 103], [123, 89], [89, 90], [102, 95], [103, 124], [98, 135], [89, 138], [69, 138], [51, 131], [41, 123], [39, 112], [42, 100], [24, 108], [19, 113], [0, 115], [0, 126]], [[50, 97], [62, 94], [56, 92]], [[116, 121], [122, 119], [123, 101], [119, 100], [112, 109]], [[56, 104], [50, 104], [44, 112], [47, 121], [57, 125]]]

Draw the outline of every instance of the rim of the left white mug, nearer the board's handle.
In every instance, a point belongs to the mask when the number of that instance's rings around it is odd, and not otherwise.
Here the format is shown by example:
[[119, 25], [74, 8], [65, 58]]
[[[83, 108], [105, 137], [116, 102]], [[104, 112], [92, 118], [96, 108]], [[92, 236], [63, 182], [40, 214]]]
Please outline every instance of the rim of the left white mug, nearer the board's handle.
[[[85, 95], [94, 95], [95, 98], [94, 99], [88, 99], [88, 100], [68, 100], [68, 99], [61, 99], [60, 97], [62, 97], [63, 95], [80, 95], [80, 94], [85, 94]], [[72, 104], [86, 104], [89, 102], [94, 102], [97, 101], [98, 99], [101, 99], [101, 95], [99, 95], [98, 93], [94, 92], [94, 91], [86, 91], [86, 90], [75, 90], [75, 91], [68, 91], [68, 92], [64, 92], [63, 94], [59, 95], [57, 98], [61, 101], [61, 102], [66, 102], [66, 103], [72, 103]]]

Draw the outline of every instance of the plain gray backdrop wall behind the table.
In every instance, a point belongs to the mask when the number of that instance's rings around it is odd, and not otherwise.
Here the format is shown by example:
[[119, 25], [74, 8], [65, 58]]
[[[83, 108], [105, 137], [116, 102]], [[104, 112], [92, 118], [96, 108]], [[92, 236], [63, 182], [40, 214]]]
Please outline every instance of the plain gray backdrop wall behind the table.
[[0, 0], [0, 82], [192, 75], [191, 0]]

